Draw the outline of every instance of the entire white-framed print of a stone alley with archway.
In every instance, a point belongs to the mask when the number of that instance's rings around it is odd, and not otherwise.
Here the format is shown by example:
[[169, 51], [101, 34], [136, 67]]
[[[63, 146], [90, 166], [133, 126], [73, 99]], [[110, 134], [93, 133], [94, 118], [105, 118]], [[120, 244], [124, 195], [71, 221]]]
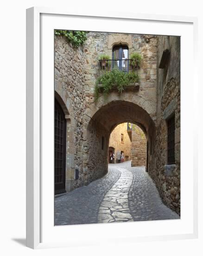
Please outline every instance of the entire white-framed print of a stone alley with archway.
[[197, 237], [196, 29], [27, 9], [28, 247]]

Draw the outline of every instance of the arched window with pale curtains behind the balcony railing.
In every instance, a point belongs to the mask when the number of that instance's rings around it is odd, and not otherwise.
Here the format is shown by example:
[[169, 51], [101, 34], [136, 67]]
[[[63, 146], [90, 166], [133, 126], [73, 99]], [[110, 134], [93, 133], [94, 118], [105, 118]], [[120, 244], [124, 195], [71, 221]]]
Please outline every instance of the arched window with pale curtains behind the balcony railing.
[[112, 68], [116, 68], [120, 71], [128, 72], [129, 60], [128, 60], [128, 47], [125, 45], [116, 45], [112, 50]]

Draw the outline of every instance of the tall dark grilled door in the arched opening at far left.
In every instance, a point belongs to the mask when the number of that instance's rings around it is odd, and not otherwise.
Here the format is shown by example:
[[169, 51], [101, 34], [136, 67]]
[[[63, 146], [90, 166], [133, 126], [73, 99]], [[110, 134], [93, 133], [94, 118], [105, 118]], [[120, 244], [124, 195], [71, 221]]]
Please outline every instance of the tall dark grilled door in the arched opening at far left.
[[54, 115], [54, 183], [55, 194], [65, 191], [66, 120], [63, 109], [55, 100]]

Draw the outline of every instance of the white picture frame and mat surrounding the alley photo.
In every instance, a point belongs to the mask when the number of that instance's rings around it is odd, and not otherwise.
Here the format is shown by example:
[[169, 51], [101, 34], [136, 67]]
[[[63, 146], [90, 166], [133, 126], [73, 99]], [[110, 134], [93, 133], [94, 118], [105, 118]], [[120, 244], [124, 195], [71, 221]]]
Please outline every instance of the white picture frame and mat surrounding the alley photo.
[[[60, 18], [60, 19], [59, 19]], [[65, 19], [69, 19], [69, 23], [66, 23]], [[70, 23], [70, 19], [76, 21], [74, 23]], [[80, 20], [80, 22], [78, 22]], [[95, 245], [99, 243], [99, 239], [104, 235], [106, 232], [112, 232], [114, 234], [113, 237], [106, 237], [104, 240], [107, 243], [126, 243], [129, 242], [137, 242], [137, 241], [153, 241], [153, 240], [166, 240], [166, 239], [184, 239], [184, 238], [196, 238], [197, 237], [197, 128], [195, 128], [195, 121], [197, 120], [197, 115], [193, 115], [191, 118], [193, 119], [193, 126], [192, 129], [194, 130], [193, 136], [190, 138], [190, 146], [193, 148], [190, 152], [192, 153], [192, 157], [188, 159], [188, 167], [192, 169], [191, 176], [185, 176], [186, 182], [190, 182], [191, 186], [191, 193], [189, 196], [189, 202], [192, 203], [192, 207], [190, 207], [189, 215], [183, 217], [181, 216], [180, 220], [180, 227], [179, 230], [172, 230], [173, 221], [168, 221], [168, 227], [171, 226], [170, 232], [162, 232], [160, 230], [157, 234], [155, 229], [156, 226], [163, 226], [166, 222], [131, 222], [131, 223], [116, 223], [116, 224], [91, 224], [91, 225], [72, 225], [72, 226], [62, 226], [62, 227], [54, 227], [52, 219], [53, 219], [53, 193], [50, 193], [51, 189], [53, 190], [53, 174], [50, 175], [49, 179], [46, 181], [48, 183], [48, 189], [44, 189], [44, 172], [46, 165], [46, 158], [50, 158], [49, 153], [44, 155], [45, 151], [45, 136], [44, 136], [44, 126], [46, 122], [52, 120], [53, 113], [50, 115], [44, 115], [44, 111], [48, 108], [53, 109], [52, 101], [52, 93], [48, 92], [46, 97], [44, 96], [44, 88], [42, 86], [43, 83], [46, 84], [49, 82], [51, 86], [53, 86], [53, 79], [54, 73], [49, 73], [53, 70], [53, 62], [51, 65], [49, 64], [51, 57], [48, 57], [51, 50], [53, 50], [53, 34], [51, 35], [51, 31], [53, 31], [53, 24], [56, 21], [56, 29], [78, 29], [78, 30], [88, 30], [94, 31], [92, 29], [92, 22], [90, 20], [94, 20], [99, 26], [99, 21], [103, 21], [103, 27], [105, 25], [105, 21], [111, 21], [116, 24], [119, 22], [121, 27], [118, 29], [116, 27], [112, 32], [123, 32], [125, 31], [126, 23], [137, 22], [136, 24], [137, 29], [139, 30], [145, 22], [152, 23], [154, 26], [159, 27], [159, 31], [157, 29], [157, 33], [154, 34], [168, 34], [168, 31], [171, 31], [173, 35], [181, 35], [184, 38], [184, 33], [186, 36], [186, 32], [190, 37], [190, 42], [192, 45], [192, 51], [190, 55], [190, 61], [193, 63], [193, 67], [197, 66], [197, 18], [194, 17], [181, 17], [181, 16], [162, 16], [162, 15], [150, 15], [150, 14], [137, 14], [137, 13], [79, 13], [74, 12], [71, 13], [69, 11], [55, 9], [55, 8], [44, 8], [44, 7], [32, 7], [27, 9], [26, 12], [26, 246], [32, 249], [39, 249], [39, 248], [50, 248], [50, 247], [61, 247], [61, 246], [76, 246], [78, 244], [84, 245]], [[81, 22], [82, 21], [82, 22]], [[61, 25], [60, 25], [61, 24]], [[63, 24], [63, 26], [62, 26]], [[67, 25], [69, 24], [69, 26]], [[89, 27], [86, 27], [89, 24]], [[132, 28], [131, 24], [131, 28]], [[49, 26], [48, 29], [45, 31], [43, 26]], [[167, 25], [167, 26], [166, 26]], [[52, 27], [51, 27], [52, 26]], [[55, 25], [54, 25], [55, 26]], [[60, 26], [60, 27], [58, 27]], [[163, 27], [164, 26], [164, 27]], [[175, 28], [179, 26], [179, 30], [182, 27], [182, 34], [178, 34]], [[187, 28], [190, 27], [190, 29]], [[109, 26], [109, 29], [111, 26]], [[165, 29], [163, 29], [165, 28]], [[92, 29], [92, 30], [91, 30]], [[104, 28], [105, 29], [105, 28]], [[149, 28], [148, 28], [149, 29]], [[98, 31], [102, 31], [101, 28], [97, 29]], [[121, 31], [120, 31], [121, 30]], [[146, 31], [134, 31], [133, 28], [129, 33], [133, 32], [134, 34], [152, 34], [146, 33]], [[104, 31], [107, 31], [106, 29]], [[166, 31], [164, 33], [164, 31]], [[137, 33], [136, 33], [137, 32]], [[45, 35], [45, 33], [47, 33]], [[43, 43], [44, 38], [46, 40], [51, 39], [50, 41], [46, 42], [47, 52], [44, 54], [43, 52]], [[186, 38], [186, 37], [185, 37]], [[187, 47], [186, 47], [187, 48]], [[181, 48], [181, 54], [184, 50], [183, 47]], [[43, 55], [44, 54], [44, 55]], [[54, 51], [52, 52], [54, 54]], [[46, 58], [47, 57], [47, 58]], [[184, 59], [184, 56], [181, 55], [181, 61]], [[45, 62], [44, 62], [45, 61]], [[53, 58], [51, 59], [53, 61]], [[47, 65], [47, 67], [45, 67]], [[181, 63], [181, 83], [185, 81], [184, 76], [185, 73], [182, 73], [182, 67], [184, 67], [184, 63]], [[44, 69], [45, 68], [45, 69]], [[186, 69], [185, 69], [186, 70]], [[197, 113], [197, 68], [193, 68], [190, 70], [190, 74], [188, 74], [190, 81], [190, 92], [193, 93], [193, 103], [194, 105], [190, 106], [190, 114]], [[50, 75], [50, 80], [46, 79], [47, 74]], [[187, 84], [188, 81], [185, 81]], [[185, 90], [188, 93], [187, 87]], [[187, 108], [187, 93], [184, 92], [181, 94], [181, 101], [182, 107]], [[190, 93], [189, 92], [189, 93]], [[46, 102], [46, 103], [45, 103]], [[52, 111], [52, 110], [51, 110]], [[50, 111], [50, 112], [51, 112]], [[53, 111], [52, 111], [53, 112]], [[182, 121], [184, 122], [184, 113], [182, 115]], [[183, 126], [182, 126], [183, 127]], [[183, 135], [182, 135], [183, 134]], [[181, 134], [181, 140], [184, 138], [184, 133]], [[50, 134], [49, 134], [50, 135]], [[183, 140], [184, 141], [184, 140]], [[181, 154], [184, 153], [185, 157], [189, 156], [186, 152], [184, 152], [184, 143], [182, 144]], [[52, 150], [51, 148], [50, 150]], [[48, 150], [49, 151], [49, 150]], [[48, 152], [47, 151], [47, 152]], [[182, 158], [181, 158], [182, 159]], [[182, 160], [181, 160], [182, 161]], [[184, 159], [183, 159], [184, 166]], [[50, 161], [50, 166], [47, 168], [53, 168], [53, 161]], [[182, 173], [181, 173], [182, 175]], [[184, 177], [184, 174], [183, 174]], [[190, 181], [189, 181], [190, 179]], [[184, 179], [183, 179], [184, 182]], [[187, 189], [185, 188], [184, 183], [181, 183], [181, 190]], [[189, 183], [188, 183], [189, 184]], [[48, 193], [48, 192], [49, 193]], [[44, 198], [46, 200], [44, 200]], [[46, 210], [49, 211], [49, 207], [52, 207], [50, 212], [50, 216], [47, 216], [47, 223], [44, 224], [44, 203], [46, 201]], [[184, 205], [184, 200], [181, 201], [181, 204]], [[52, 205], [52, 206], [51, 206]], [[183, 212], [184, 213], [184, 212]], [[184, 229], [184, 225], [189, 218], [190, 221], [188, 222], [188, 226]], [[52, 222], [53, 227], [50, 229], [48, 225], [51, 225]], [[182, 222], [182, 223], [181, 223]], [[163, 224], [164, 223], [164, 224]], [[43, 226], [44, 225], [44, 226]], [[122, 225], [122, 226], [121, 226]], [[146, 230], [146, 232], [140, 233], [140, 235], [135, 234], [132, 232], [129, 227], [130, 225], [136, 225], [137, 230]], [[177, 225], [177, 224], [176, 224]], [[147, 227], [148, 226], [148, 227]], [[135, 227], [135, 226], [133, 226]], [[67, 233], [67, 230], [71, 230], [71, 237], [60, 239], [60, 234], [64, 236]], [[153, 232], [148, 232], [147, 229], [153, 230]], [[157, 228], [159, 229], [159, 228]], [[54, 230], [54, 231], [53, 231]], [[121, 231], [126, 233], [127, 235], [121, 235]], [[163, 229], [164, 230], [164, 229]], [[181, 231], [182, 230], [182, 231]], [[174, 231], [174, 232], [173, 232]], [[55, 232], [56, 236], [53, 235]], [[153, 233], [153, 234], [152, 234]], [[52, 234], [53, 236], [46, 236], [44, 238], [44, 234]], [[79, 235], [77, 235], [79, 234]], [[87, 235], [85, 235], [87, 234]], [[93, 236], [91, 235], [93, 234]], [[98, 236], [94, 239], [95, 234]], [[43, 239], [42, 239], [43, 237]], [[58, 239], [57, 239], [58, 237]], [[68, 237], [68, 236], [67, 236]], [[98, 240], [98, 241], [97, 241]]]

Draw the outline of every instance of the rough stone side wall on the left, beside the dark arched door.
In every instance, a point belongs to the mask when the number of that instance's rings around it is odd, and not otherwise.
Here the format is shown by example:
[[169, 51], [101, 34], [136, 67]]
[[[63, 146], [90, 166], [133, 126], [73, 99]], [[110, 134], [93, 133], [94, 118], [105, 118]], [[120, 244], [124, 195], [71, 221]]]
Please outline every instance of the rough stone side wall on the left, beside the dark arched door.
[[[66, 190], [82, 186], [85, 67], [82, 47], [74, 48], [62, 36], [55, 37], [55, 97], [66, 111]], [[79, 169], [79, 180], [74, 179]]]

